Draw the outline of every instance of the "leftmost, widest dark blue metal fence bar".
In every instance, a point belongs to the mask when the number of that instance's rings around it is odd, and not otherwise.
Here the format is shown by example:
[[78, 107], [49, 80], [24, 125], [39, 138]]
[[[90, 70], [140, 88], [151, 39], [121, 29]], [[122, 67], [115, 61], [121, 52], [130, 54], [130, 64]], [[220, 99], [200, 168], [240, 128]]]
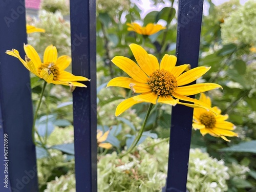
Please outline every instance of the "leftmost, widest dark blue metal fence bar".
[[[27, 42], [25, 1], [0, 1], [0, 121], [1, 165], [3, 134], [8, 135], [8, 186], [12, 191], [38, 191], [35, 146], [31, 138], [33, 114], [28, 70], [6, 50], [17, 49], [24, 58]], [[0, 169], [0, 191], [5, 191]], [[4, 174], [6, 175], [6, 174]], [[10, 190], [8, 190], [10, 191]]]

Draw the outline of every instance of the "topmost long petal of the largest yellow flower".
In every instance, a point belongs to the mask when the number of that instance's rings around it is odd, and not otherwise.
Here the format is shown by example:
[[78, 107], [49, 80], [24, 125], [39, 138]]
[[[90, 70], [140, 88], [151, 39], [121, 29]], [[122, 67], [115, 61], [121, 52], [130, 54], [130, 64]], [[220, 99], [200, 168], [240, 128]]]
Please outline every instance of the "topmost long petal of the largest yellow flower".
[[[138, 65], [145, 74], [150, 76], [154, 71], [156, 71], [156, 58], [149, 56], [147, 52], [137, 44], [131, 44], [129, 47], [132, 50]], [[157, 66], [157, 69], [159, 69], [159, 65]]]

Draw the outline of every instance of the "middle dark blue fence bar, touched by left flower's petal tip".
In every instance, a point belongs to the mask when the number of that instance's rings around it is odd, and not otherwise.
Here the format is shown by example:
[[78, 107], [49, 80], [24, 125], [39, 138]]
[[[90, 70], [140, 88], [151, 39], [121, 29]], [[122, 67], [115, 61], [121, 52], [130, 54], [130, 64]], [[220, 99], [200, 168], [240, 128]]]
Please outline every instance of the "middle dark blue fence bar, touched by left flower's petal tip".
[[73, 92], [76, 191], [97, 191], [95, 0], [70, 1], [72, 71], [88, 88]]

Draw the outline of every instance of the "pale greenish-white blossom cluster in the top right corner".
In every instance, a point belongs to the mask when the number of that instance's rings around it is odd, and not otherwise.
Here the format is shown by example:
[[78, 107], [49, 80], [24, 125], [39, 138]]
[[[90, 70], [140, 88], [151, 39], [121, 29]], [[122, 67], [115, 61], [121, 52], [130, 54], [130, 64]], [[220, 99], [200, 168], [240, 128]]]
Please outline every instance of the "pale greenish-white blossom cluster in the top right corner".
[[224, 44], [256, 45], [256, 1], [249, 0], [231, 12], [221, 24], [221, 37]]

